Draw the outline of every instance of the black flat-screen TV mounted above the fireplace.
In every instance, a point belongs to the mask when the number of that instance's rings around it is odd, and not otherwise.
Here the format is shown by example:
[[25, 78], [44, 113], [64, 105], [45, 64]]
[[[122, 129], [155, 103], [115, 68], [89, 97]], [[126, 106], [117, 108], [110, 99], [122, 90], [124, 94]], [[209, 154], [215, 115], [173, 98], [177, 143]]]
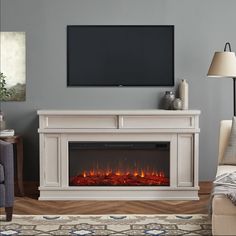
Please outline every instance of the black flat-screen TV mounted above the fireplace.
[[173, 86], [173, 25], [67, 27], [68, 86]]

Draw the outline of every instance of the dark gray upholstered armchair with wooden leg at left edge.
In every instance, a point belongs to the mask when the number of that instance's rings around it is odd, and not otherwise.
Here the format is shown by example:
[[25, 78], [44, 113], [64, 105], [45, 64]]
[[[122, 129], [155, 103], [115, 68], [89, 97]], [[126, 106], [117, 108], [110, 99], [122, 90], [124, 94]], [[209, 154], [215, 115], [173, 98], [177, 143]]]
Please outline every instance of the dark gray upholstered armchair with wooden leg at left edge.
[[11, 221], [14, 203], [13, 146], [0, 140], [0, 207], [5, 207], [6, 220]]

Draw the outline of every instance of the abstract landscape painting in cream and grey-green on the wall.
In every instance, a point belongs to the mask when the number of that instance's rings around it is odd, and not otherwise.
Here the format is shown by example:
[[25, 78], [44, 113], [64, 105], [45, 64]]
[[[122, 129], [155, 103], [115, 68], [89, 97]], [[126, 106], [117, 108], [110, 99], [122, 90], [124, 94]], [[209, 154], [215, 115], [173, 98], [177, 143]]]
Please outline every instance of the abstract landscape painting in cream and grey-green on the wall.
[[0, 101], [25, 101], [25, 32], [0, 32]]

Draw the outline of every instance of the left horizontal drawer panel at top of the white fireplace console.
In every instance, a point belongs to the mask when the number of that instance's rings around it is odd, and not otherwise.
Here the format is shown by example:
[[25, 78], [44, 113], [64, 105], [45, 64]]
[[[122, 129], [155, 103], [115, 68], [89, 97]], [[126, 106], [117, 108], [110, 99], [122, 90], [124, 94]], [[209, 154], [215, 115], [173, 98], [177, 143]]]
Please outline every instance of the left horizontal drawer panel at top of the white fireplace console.
[[117, 128], [117, 116], [46, 116], [45, 128], [50, 128], [50, 129]]

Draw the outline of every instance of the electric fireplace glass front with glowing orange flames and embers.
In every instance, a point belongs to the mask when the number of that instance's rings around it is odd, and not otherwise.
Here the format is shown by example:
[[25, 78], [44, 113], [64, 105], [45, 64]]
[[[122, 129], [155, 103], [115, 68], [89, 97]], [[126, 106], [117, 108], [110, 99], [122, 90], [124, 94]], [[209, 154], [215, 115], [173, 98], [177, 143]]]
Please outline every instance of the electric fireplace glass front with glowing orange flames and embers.
[[169, 186], [170, 142], [69, 142], [69, 186]]

